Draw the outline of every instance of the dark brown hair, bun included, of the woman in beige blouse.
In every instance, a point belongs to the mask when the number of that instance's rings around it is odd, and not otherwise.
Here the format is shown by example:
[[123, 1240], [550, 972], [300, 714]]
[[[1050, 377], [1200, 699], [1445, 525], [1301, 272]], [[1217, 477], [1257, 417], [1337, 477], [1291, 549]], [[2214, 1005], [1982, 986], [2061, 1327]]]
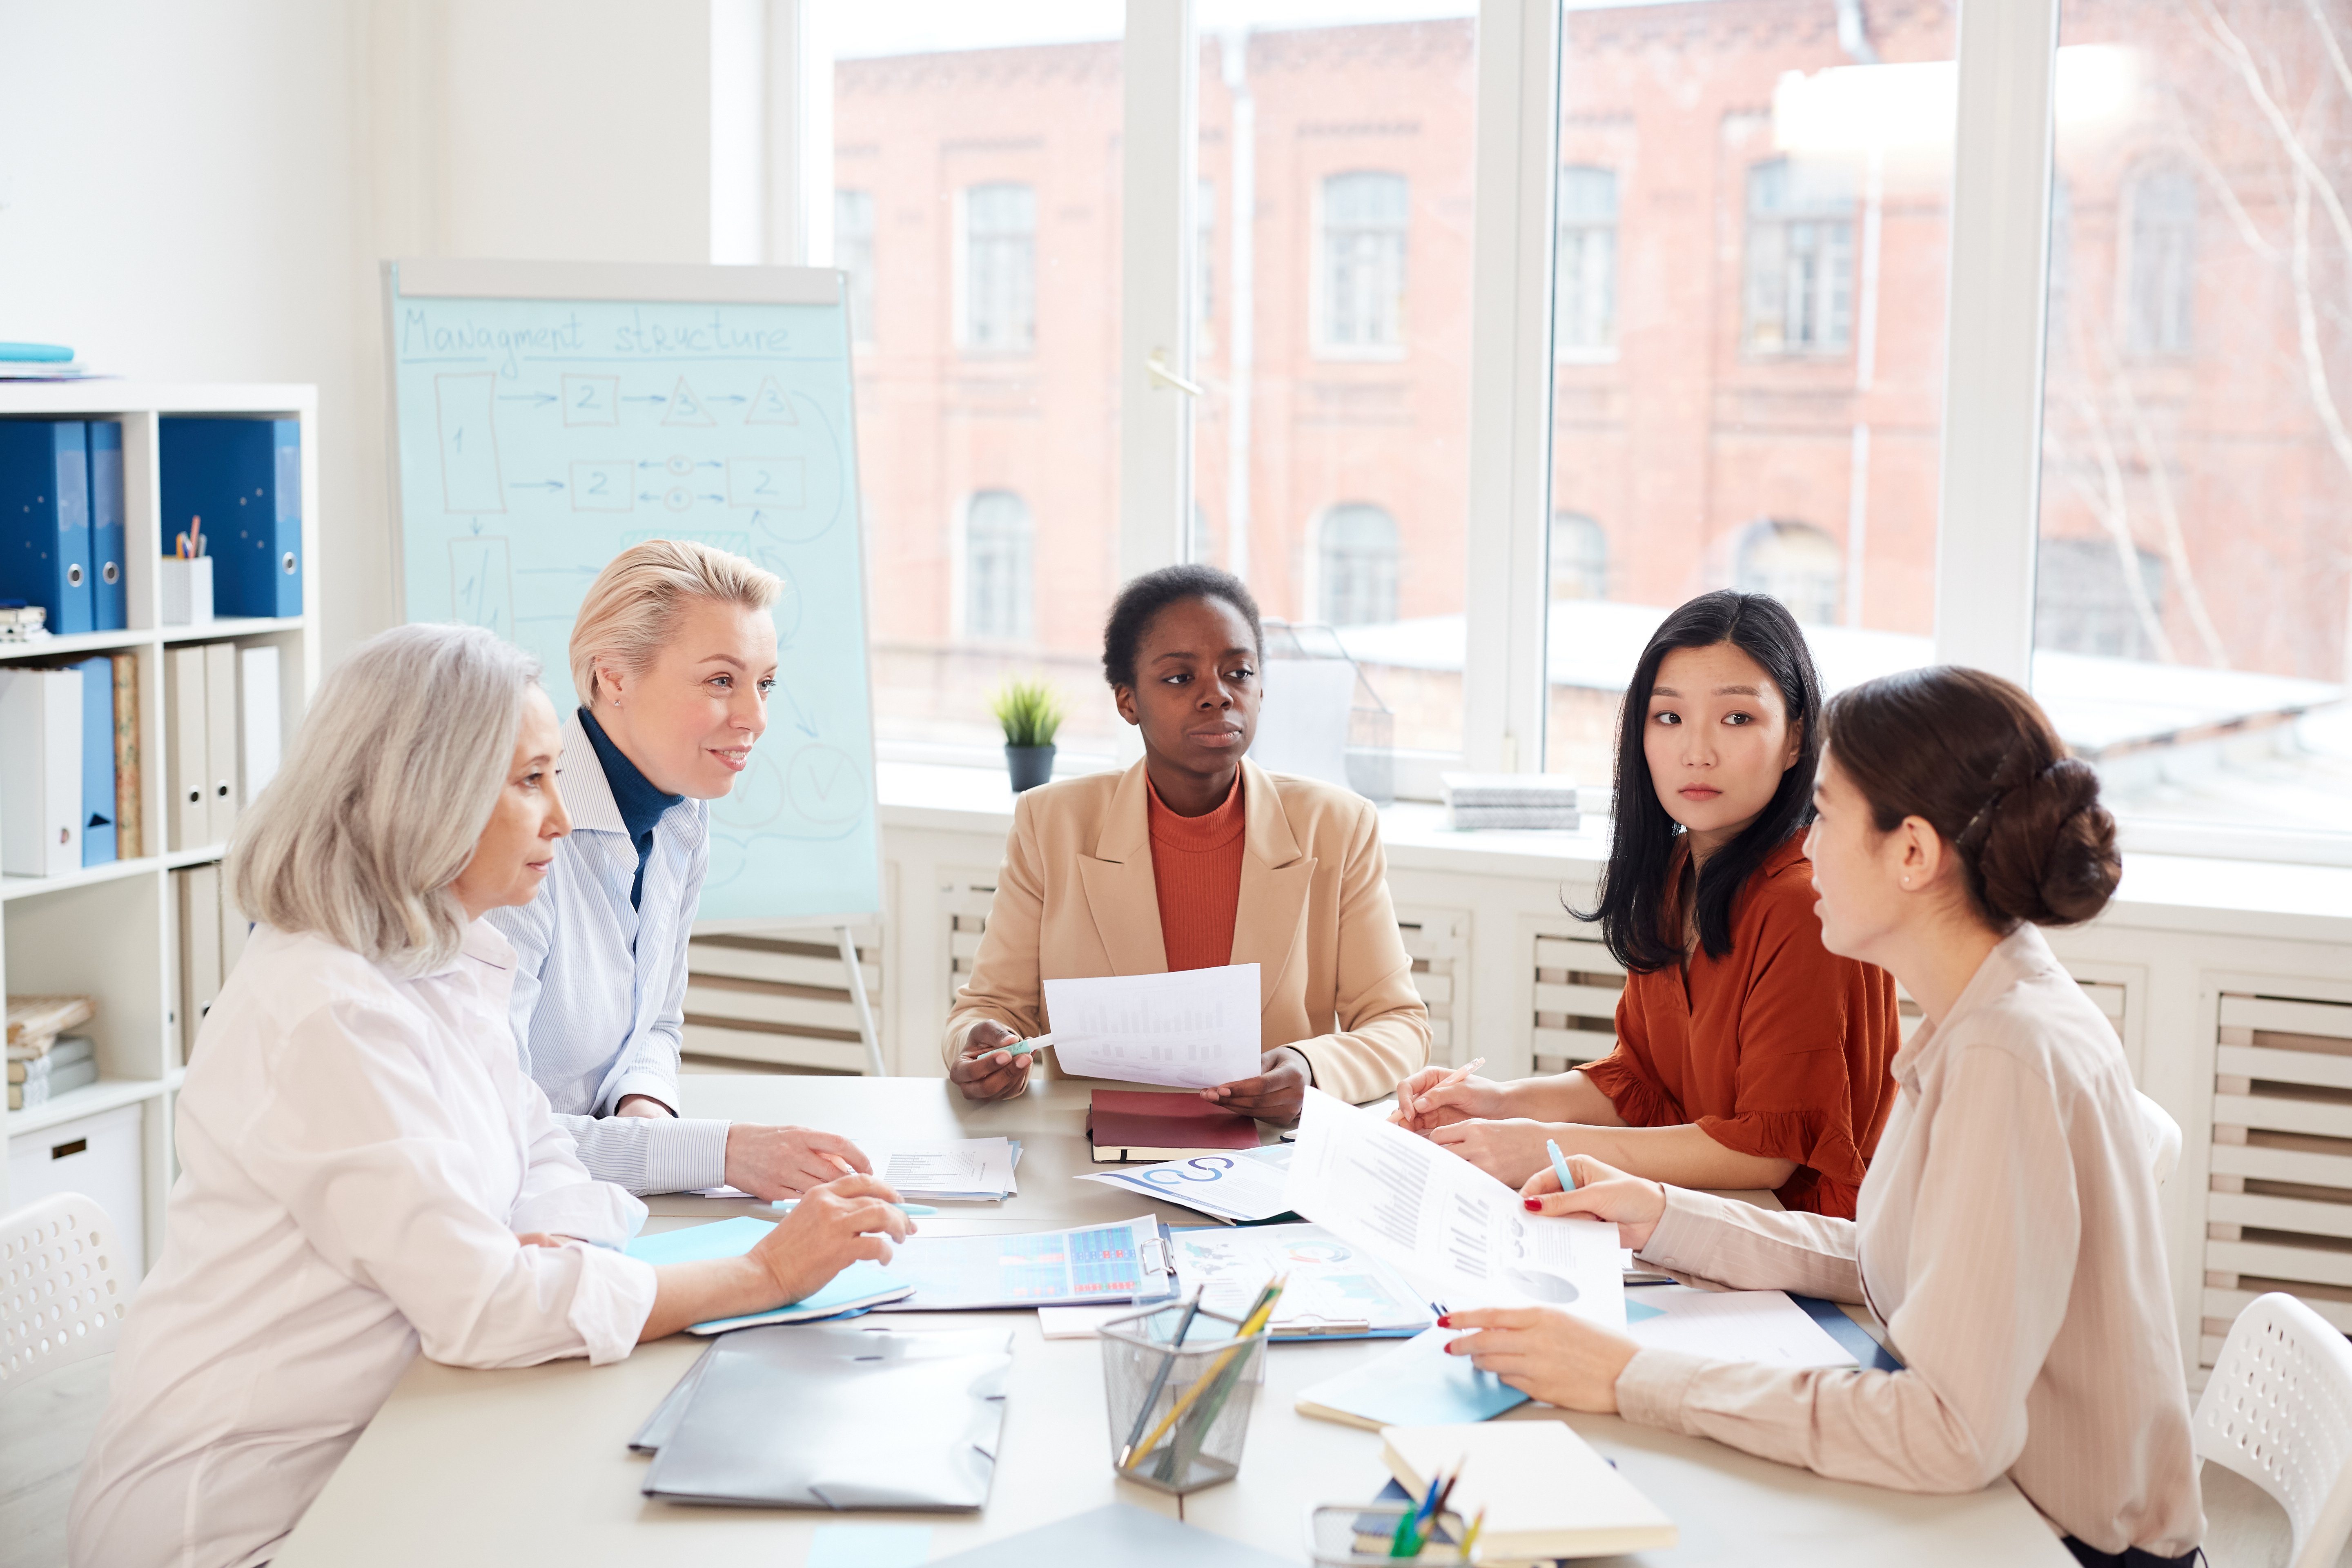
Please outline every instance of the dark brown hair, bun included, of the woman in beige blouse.
[[2016, 682], [1959, 665], [1882, 675], [1830, 703], [1823, 741], [1872, 827], [1926, 818], [1959, 853], [1994, 931], [2072, 926], [2114, 896], [2124, 860], [2098, 771]]

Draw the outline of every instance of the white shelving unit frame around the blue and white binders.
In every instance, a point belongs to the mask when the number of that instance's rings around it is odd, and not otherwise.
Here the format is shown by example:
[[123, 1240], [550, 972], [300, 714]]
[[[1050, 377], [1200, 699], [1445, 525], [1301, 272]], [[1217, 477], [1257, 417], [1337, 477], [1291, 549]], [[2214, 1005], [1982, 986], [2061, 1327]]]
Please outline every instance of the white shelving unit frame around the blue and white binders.
[[[256, 414], [301, 421], [303, 611], [292, 618], [219, 618], [160, 625], [158, 562], [165, 555], [158, 421], [167, 414]], [[0, 644], [0, 665], [64, 656], [139, 656], [139, 811], [141, 856], [64, 877], [0, 877], [0, 983], [9, 992], [92, 994], [87, 1025], [99, 1081], [47, 1105], [7, 1112], [9, 1159], [0, 1164], [0, 1213], [31, 1194], [12, 1194], [9, 1166], [71, 1150], [78, 1124], [139, 1107], [139, 1194], [146, 1262], [162, 1251], [162, 1206], [176, 1164], [172, 1100], [181, 1081], [179, 910], [172, 872], [219, 860], [223, 846], [169, 849], [165, 799], [169, 712], [165, 651], [188, 642], [278, 646], [280, 722], [287, 748], [318, 686], [318, 388], [212, 383], [0, 383], [0, 418], [111, 418], [122, 423], [122, 505], [129, 628], [82, 632], [35, 644]], [[191, 1030], [193, 1032], [193, 1030]], [[66, 1154], [56, 1154], [64, 1159]], [[129, 1215], [118, 1215], [129, 1220]]]

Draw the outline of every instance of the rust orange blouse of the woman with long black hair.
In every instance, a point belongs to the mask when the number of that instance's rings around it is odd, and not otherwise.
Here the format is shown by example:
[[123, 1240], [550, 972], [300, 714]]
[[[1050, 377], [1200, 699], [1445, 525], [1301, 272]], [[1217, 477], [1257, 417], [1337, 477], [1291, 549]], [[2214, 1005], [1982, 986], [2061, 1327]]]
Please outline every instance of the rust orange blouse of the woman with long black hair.
[[1625, 978], [1618, 1048], [1585, 1065], [1628, 1126], [1698, 1124], [1708, 1138], [1795, 1159], [1788, 1208], [1853, 1218], [1893, 1110], [1903, 1044], [1884, 969], [1820, 945], [1804, 835], [1776, 849], [1731, 905], [1731, 952]]

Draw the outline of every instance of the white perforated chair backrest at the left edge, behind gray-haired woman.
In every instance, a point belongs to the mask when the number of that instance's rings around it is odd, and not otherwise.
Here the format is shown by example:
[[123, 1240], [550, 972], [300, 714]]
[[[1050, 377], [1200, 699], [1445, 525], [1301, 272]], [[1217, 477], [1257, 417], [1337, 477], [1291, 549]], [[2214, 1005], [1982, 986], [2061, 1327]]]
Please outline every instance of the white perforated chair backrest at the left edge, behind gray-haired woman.
[[0, 1220], [0, 1396], [115, 1347], [129, 1262], [113, 1220], [80, 1192]]

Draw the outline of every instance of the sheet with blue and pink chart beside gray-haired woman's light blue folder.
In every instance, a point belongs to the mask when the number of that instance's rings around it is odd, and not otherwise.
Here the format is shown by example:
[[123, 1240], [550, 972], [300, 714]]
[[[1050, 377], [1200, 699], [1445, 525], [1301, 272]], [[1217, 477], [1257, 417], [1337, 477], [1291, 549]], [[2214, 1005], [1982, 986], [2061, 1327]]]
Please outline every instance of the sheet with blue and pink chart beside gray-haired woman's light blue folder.
[[1152, 1215], [1025, 1237], [915, 1234], [891, 1253], [889, 1272], [915, 1286], [913, 1295], [894, 1302], [903, 1312], [1075, 1307], [1176, 1295], [1169, 1232]]

